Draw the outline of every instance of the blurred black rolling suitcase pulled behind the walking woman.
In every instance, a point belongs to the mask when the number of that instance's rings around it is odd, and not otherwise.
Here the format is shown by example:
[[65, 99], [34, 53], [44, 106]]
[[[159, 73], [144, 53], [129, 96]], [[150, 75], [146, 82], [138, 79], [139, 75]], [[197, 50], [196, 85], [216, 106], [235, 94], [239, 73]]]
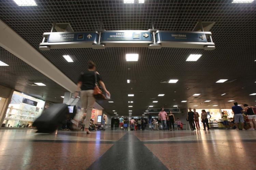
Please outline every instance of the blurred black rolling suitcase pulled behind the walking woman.
[[67, 104], [53, 104], [34, 121], [32, 126], [37, 127], [38, 133], [53, 133], [58, 125], [67, 119], [68, 114]]

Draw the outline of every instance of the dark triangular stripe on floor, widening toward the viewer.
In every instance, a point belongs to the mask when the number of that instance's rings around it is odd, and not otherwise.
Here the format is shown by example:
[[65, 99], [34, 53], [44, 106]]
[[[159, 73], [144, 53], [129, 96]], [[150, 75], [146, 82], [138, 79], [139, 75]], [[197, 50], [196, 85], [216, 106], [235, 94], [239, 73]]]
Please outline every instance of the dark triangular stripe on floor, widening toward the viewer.
[[88, 168], [90, 169], [158, 170], [167, 168], [135, 135], [126, 133]]

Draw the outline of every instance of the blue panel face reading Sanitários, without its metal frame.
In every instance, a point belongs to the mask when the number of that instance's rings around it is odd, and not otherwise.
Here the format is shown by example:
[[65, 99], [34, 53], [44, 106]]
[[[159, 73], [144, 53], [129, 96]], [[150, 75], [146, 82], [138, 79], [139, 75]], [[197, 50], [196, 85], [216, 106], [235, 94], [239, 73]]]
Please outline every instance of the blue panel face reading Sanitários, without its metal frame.
[[204, 33], [157, 32], [156, 41], [207, 42]]

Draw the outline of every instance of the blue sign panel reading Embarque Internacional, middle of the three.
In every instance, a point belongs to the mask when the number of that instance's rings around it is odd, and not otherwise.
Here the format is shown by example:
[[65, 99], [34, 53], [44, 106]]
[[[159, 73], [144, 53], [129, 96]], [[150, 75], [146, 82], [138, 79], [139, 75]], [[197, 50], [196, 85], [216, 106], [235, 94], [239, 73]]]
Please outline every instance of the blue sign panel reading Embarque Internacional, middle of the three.
[[102, 41], [152, 41], [151, 32], [103, 32]]

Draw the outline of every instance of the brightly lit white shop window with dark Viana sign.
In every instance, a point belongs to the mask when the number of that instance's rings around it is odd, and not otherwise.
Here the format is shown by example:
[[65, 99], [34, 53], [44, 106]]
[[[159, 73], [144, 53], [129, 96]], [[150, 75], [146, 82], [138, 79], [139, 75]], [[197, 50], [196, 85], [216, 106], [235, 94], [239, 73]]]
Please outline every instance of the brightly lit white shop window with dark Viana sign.
[[43, 112], [45, 101], [14, 91], [3, 124], [5, 127], [28, 128]]

